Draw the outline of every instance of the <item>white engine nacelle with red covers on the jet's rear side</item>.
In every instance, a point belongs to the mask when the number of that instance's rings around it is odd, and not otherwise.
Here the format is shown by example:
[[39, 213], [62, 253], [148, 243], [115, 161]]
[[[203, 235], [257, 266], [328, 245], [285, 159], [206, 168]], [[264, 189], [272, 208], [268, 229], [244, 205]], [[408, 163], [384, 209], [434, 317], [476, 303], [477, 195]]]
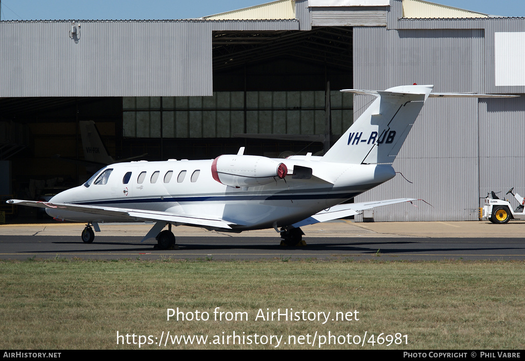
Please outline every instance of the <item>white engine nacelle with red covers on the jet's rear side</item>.
[[268, 184], [287, 174], [285, 164], [256, 155], [220, 155], [212, 163], [213, 179], [232, 187]]

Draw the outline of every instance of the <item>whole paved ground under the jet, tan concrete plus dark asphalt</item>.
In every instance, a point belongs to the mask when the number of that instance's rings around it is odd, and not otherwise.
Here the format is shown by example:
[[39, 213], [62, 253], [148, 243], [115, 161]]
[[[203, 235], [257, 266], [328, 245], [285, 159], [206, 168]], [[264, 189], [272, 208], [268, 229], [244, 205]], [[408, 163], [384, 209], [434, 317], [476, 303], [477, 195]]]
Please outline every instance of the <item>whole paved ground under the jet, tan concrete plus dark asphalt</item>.
[[152, 224], [106, 223], [93, 243], [85, 224], [47, 222], [0, 225], [0, 258], [88, 259], [374, 259], [525, 260], [525, 222], [374, 222], [338, 220], [302, 227], [306, 246], [283, 247], [274, 229], [229, 233], [173, 227], [176, 247], [140, 242]]

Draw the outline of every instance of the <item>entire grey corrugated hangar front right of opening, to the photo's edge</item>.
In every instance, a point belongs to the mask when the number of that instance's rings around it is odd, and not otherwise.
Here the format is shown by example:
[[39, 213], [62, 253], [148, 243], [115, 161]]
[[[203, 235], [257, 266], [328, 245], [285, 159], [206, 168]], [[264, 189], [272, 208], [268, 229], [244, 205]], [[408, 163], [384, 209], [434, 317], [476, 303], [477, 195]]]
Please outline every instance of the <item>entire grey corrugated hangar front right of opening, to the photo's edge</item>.
[[[523, 32], [525, 19], [401, 19], [401, 0], [390, 10], [387, 29], [354, 28], [354, 88], [416, 82], [521, 97], [430, 98], [394, 162], [414, 184], [397, 175], [356, 200], [416, 197], [433, 205], [376, 208], [378, 221], [476, 220], [490, 190], [525, 194], [525, 87], [495, 83], [495, 33]], [[355, 98], [355, 119], [367, 101]]]

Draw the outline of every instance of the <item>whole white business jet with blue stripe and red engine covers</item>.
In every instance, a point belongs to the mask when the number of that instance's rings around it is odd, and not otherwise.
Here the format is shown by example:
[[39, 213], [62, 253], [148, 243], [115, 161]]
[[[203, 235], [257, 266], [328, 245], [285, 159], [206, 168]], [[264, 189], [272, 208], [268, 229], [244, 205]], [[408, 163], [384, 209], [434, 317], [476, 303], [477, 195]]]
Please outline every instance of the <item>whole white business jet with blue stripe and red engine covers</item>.
[[[143, 240], [161, 249], [175, 244], [171, 226], [240, 232], [275, 228], [296, 245], [301, 226], [360, 214], [375, 206], [412, 198], [343, 204], [395, 176], [392, 163], [428, 97], [491, 98], [511, 95], [431, 93], [433, 86], [385, 91], [342, 91], [376, 99], [323, 156], [272, 159], [237, 154], [214, 160], [131, 162], [106, 166], [85, 184], [48, 202], [8, 200], [42, 207], [56, 219], [87, 222], [82, 240], [91, 243], [100, 222], [155, 222]], [[166, 225], [169, 229], [163, 230]]]

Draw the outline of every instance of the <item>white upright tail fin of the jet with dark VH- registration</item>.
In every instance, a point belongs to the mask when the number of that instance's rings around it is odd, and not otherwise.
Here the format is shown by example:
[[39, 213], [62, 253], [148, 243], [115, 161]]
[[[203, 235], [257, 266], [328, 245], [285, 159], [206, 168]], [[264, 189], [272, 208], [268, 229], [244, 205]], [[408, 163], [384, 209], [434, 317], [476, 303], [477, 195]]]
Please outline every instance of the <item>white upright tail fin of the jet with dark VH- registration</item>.
[[345, 89], [377, 99], [322, 157], [325, 162], [392, 164], [432, 85], [413, 85], [385, 91]]

